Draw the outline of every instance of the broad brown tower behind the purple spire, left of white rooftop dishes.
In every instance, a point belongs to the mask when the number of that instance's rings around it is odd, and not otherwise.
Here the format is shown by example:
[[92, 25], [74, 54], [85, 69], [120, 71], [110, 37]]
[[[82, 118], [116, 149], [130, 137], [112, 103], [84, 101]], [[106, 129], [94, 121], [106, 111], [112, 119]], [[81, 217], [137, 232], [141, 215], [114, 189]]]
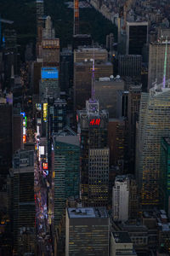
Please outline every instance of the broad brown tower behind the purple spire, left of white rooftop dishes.
[[74, 50], [74, 108], [82, 109], [91, 96], [92, 66], [95, 60], [95, 79], [110, 77], [112, 64], [101, 47], [80, 47]]

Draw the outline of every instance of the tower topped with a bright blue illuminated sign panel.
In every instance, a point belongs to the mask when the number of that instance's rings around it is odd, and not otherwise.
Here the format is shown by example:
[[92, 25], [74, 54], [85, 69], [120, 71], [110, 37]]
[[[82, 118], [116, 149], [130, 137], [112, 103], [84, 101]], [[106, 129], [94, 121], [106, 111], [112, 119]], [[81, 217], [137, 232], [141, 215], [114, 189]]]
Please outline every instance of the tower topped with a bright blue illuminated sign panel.
[[40, 99], [59, 98], [59, 71], [57, 67], [42, 67]]

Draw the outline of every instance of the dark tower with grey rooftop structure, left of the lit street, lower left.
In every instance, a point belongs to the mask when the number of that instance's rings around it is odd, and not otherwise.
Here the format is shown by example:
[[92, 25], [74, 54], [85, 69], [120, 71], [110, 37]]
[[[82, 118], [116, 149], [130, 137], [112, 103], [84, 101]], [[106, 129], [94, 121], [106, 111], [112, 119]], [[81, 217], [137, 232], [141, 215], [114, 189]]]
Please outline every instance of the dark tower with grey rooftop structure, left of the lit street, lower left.
[[[35, 252], [34, 151], [14, 154], [12, 179], [14, 255]], [[23, 231], [29, 230], [25, 239]]]

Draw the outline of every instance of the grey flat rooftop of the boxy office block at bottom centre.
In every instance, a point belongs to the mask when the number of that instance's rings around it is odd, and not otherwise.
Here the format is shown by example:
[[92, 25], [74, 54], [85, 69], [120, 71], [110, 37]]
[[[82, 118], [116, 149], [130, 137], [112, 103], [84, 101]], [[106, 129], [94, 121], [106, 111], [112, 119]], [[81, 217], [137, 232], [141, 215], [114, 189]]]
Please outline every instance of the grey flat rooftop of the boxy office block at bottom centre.
[[67, 208], [69, 218], [108, 218], [105, 207]]

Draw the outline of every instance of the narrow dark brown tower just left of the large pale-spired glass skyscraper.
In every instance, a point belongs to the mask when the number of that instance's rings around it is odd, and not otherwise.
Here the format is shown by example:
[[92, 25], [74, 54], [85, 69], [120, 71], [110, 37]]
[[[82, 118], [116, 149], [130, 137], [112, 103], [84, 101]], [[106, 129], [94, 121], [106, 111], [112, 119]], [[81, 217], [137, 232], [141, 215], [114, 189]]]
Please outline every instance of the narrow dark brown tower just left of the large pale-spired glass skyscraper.
[[135, 146], [136, 146], [136, 122], [139, 121], [139, 107], [142, 85], [130, 85], [128, 90], [128, 159], [131, 172], [135, 164]]

